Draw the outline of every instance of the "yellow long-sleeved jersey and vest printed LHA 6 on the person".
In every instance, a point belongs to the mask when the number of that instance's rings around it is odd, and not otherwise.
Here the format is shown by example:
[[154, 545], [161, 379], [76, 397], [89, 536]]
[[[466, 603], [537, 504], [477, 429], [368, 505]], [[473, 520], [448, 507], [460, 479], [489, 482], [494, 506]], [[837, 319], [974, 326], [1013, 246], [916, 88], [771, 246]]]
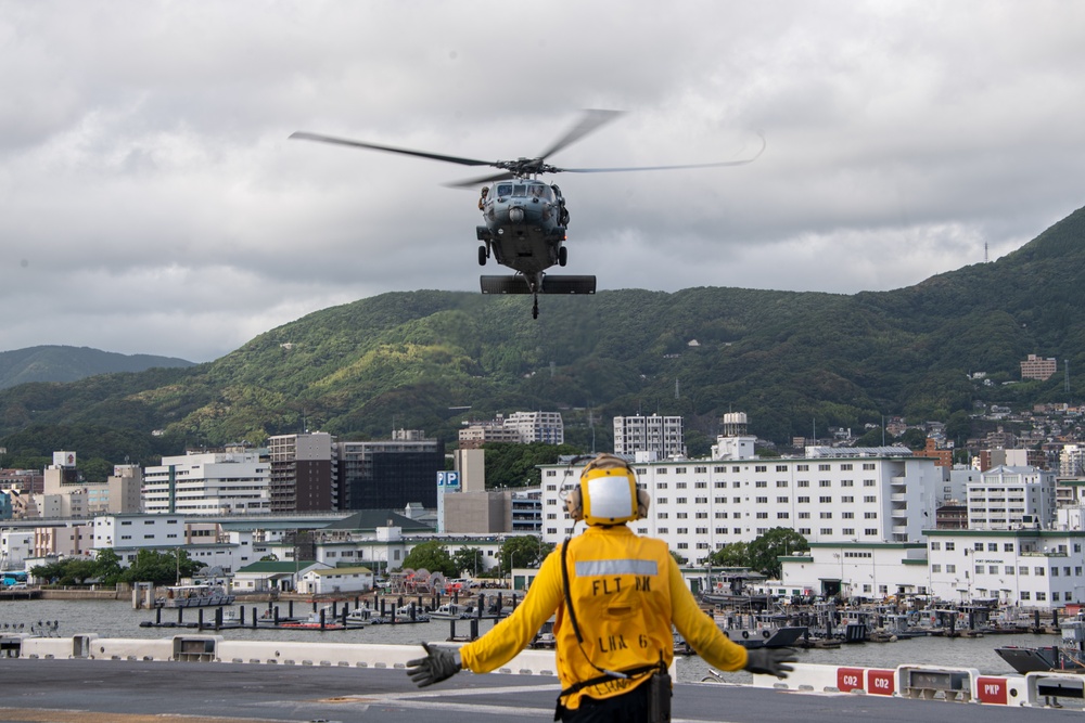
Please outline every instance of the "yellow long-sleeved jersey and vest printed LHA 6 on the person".
[[[603, 671], [630, 670], [674, 659], [672, 623], [690, 647], [722, 670], [745, 667], [746, 653], [731, 643], [697, 605], [666, 543], [635, 534], [625, 525], [588, 527], [569, 541], [565, 556], [570, 595], [582, 641], [565, 609], [561, 546], [539, 570], [527, 595], [494, 630], [460, 648], [463, 666], [476, 673], [495, 670], [524, 649], [557, 612], [558, 676], [563, 689], [599, 679]], [[612, 677], [563, 699], [579, 708], [580, 697], [621, 695], [650, 673]]]

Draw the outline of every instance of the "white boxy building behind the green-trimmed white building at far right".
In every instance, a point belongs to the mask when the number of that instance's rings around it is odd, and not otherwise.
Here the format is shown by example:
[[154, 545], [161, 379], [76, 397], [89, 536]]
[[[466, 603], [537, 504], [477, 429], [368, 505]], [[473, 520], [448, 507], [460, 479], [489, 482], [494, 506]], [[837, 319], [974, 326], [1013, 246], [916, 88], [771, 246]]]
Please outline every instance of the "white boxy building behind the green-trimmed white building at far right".
[[1055, 524], [1055, 473], [1037, 467], [993, 467], [970, 481], [968, 528], [1049, 528]]

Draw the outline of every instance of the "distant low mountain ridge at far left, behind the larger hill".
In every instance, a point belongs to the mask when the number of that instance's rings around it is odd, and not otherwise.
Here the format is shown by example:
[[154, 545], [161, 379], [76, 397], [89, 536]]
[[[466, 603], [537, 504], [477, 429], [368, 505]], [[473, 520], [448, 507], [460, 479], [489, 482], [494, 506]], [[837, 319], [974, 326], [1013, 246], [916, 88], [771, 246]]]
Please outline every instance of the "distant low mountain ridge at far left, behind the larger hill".
[[192, 365], [173, 357], [118, 354], [88, 347], [28, 347], [0, 351], [0, 389], [29, 382], [75, 382], [95, 374]]

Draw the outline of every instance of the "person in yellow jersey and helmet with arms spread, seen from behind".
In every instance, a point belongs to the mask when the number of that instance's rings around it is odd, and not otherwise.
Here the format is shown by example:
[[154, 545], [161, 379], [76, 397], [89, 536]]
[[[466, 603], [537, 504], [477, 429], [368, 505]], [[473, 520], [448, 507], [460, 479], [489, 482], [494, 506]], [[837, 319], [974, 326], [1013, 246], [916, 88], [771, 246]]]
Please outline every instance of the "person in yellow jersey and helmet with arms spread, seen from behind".
[[[520, 606], [486, 635], [458, 651], [423, 645], [426, 657], [407, 663], [411, 680], [426, 686], [462, 668], [496, 670], [556, 611], [562, 721], [649, 721], [660, 686], [646, 683], [674, 658], [672, 623], [710, 666], [786, 677], [793, 649], [748, 650], [730, 642], [698, 607], [666, 543], [626, 526], [648, 515], [648, 503], [625, 460], [601, 454], [589, 462], [565, 499], [570, 516], [587, 524], [584, 533], [544, 560]], [[669, 720], [665, 687], [661, 720]]]

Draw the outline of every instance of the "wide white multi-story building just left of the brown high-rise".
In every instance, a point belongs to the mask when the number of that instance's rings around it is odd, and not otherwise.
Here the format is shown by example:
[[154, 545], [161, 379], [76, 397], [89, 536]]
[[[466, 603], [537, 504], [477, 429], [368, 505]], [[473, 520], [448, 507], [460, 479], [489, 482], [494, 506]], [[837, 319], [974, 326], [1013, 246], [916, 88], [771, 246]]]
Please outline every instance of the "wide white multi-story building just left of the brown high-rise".
[[143, 473], [143, 511], [157, 515], [268, 514], [270, 466], [256, 452], [162, 457], [162, 465]]

